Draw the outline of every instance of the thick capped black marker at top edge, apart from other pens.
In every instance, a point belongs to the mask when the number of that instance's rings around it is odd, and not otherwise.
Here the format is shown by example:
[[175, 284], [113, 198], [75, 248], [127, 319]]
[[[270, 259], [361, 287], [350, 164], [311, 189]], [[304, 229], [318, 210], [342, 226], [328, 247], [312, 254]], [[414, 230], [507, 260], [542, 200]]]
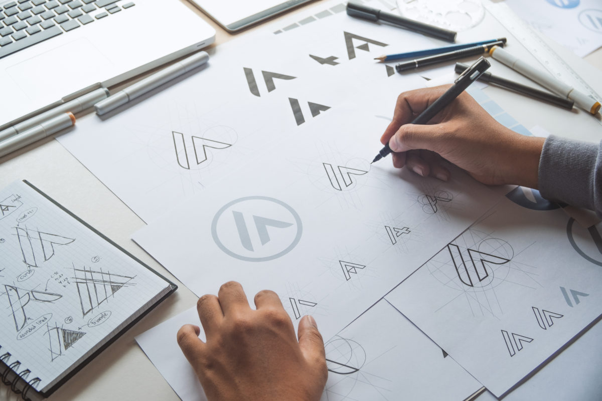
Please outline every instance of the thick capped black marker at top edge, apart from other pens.
[[393, 23], [394, 25], [409, 29], [410, 31], [420, 32], [421, 34], [429, 35], [442, 40], [451, 42], [456, 40], [456, 32], [454, 31], [449, 31], [448, 29], [439, 28], [438, 26], [418, 22], [413, 19], [404, 18], [399, 15], [385, 13], [385, 11], [366, 7], [365, 5], [352, 1], [347, 3], [347, 14], [352, 17], [359, 17], [374, 22], [382, 20], [388, 23]]

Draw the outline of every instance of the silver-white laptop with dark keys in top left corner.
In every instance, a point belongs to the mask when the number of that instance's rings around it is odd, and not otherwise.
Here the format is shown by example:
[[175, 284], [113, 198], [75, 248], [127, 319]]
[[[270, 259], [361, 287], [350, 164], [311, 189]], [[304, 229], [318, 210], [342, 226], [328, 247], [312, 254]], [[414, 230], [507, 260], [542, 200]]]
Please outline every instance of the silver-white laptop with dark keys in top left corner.
[[0, 130], [208, 46], [181, 0], [0, 0]]

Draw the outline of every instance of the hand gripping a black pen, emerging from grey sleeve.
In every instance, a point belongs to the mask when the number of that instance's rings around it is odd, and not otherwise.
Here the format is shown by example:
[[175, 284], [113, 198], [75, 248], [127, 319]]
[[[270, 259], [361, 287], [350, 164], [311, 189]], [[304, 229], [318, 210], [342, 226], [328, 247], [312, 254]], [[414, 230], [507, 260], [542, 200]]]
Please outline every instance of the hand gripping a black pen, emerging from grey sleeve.
[[494, 120], [469, 94], [462, 93], [428, 125], [409, 124], [448, 88], [418, 89], [397, 98], [393, 121], [380, 142], [389, 142], [393, 165], [447, 181], [442, 158], [485, 184], [538, 187], [544, 138], [524, 136]]

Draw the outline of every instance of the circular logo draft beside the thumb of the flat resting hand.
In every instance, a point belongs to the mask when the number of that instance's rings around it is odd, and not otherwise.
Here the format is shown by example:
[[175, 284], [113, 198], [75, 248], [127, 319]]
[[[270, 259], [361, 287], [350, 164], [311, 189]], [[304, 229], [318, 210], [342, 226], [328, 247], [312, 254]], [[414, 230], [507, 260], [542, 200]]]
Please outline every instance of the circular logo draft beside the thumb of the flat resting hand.
[[326, 366], [329, 372], [337, 375], [351, 375], [359, 372], [366, 363], [366, 352], [356, 341], [335, 335], [324, 345]]

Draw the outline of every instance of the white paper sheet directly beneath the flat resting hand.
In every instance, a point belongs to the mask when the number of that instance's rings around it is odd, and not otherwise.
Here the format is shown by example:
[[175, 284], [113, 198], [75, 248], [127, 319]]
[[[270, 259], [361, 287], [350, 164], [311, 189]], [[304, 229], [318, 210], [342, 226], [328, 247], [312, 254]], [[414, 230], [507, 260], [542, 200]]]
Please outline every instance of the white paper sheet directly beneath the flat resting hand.
[[[175, 341], [178, 329], [199, 325], [196, 308], [138, 335], [136, 341], [182, 401], [205, 400], [199, 380]], [[386, 301], [380, 301], [326, 341], [328, 381], [323, 401], [463, 400], [481, 387], [451, 357]], [[349, 372], [352, 366], [355, 372]]]

